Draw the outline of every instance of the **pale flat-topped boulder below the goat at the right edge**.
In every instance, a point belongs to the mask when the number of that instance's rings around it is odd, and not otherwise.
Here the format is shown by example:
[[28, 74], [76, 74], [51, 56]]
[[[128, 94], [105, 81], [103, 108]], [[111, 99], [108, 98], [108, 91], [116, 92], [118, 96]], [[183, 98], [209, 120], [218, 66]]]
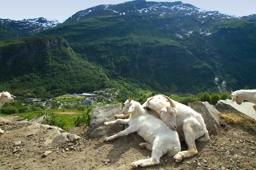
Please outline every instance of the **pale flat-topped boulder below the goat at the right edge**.
[[216, 109], [221, 113], [241, 113], [250, 118], [256, 119], [256, 112], [253, 109], [253, 103], [243, 102], [238, 105], [236, 102], [231, 102], [230, 99], [219, 100], [216, 104]]

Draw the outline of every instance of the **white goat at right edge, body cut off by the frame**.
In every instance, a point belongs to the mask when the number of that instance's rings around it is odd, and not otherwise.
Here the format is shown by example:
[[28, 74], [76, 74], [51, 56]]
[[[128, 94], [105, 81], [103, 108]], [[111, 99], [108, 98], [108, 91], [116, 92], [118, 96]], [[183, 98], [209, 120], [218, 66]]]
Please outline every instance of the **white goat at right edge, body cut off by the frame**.
[[253, 108], [256, 111], [256, 90], [231, 91], [230, 96], [232, 98], [232, 102], [236, 101], [239, 105], [241, 105], [244, 100], [254, 103], [255, 105], [253, 105]]

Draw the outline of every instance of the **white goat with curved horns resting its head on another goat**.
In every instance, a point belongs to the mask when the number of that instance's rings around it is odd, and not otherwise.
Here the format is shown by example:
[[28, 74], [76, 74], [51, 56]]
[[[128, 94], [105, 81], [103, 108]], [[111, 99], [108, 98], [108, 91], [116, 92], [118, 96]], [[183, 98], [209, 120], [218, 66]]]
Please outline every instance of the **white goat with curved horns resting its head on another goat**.
[[[168, 99], [168, 102], [166, 99]], [[170, 129], [177, 130], [180, 141], [185, 140], [188, 150], [177, 153], [174, 156], [176, 162], [180, 162], [182, 159], [198, 153], [195, 139], [198, 139], [199, 142], [209, 141], [210, 138], [203, 117], [192, 108], [163, 95], [149, 98], [142, 106], [150, 108], [151, 111], [149, 113], [151, 114], [153, 113], [152, 110], [156, 111]], [[177, 109], [177, 114], [172, 111], [173, 107]], [[122, 118], [122, 116], [114, 115], [115, 118]]]

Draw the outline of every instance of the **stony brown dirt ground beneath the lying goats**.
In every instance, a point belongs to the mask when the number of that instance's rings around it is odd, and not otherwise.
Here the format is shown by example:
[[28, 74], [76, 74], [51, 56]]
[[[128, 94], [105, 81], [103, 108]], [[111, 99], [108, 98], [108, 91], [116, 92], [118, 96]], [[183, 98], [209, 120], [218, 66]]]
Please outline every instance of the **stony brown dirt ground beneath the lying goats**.
[[[8, 126], [8, 130], [22, 128]], [[3, 127], [0, 126], [0, 127]], [[0, 136], [0, 169], [1, 170], [130, 170], [131, 163], [151, 156], [151, 152], [138, 147], [143, 139], [132, 133], [105, 142], [104, 137], [89, 139], [82, 133], [83, 126], [71, 128], [84, 138], [80, 151], [69, 150], [64, 153], [56, 148], [40, 142], [44, 133], [27, 136], [22, 140], [20, 150], [12, 153], [12, 145], [17, 142], [18, 134], [11, 139]], [[211, 136], [210, 142], [196, 142], [198, 154], [181, 163], [175, 163], [172, 157], [163, 156], [160, 164], [139, 168], [142, 170], [255, 170], [256, 169], [256, 133], [245, 130], [239, 125], [224, 125], [217, 136]], [[182, 150], [186, 150], [182, 144]], [[42, 157], [47, 150], [53, 152]]]

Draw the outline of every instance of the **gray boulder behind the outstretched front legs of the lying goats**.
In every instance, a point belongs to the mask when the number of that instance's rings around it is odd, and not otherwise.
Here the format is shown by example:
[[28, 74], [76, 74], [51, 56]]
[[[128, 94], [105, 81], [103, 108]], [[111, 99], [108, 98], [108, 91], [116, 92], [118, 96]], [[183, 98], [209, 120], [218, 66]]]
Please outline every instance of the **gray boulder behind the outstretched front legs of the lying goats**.
[[104, 122], [115, 120], [113, 115], [120, 114], [122, 104], [108, 105], [101, 108], [93, 108], [90, 117], [90, 126], [88, 135], [93, 138], [105, 136], [110, 133], [117, 133], [122, 130], [118, 124], [111, 127], [105, 127]]

